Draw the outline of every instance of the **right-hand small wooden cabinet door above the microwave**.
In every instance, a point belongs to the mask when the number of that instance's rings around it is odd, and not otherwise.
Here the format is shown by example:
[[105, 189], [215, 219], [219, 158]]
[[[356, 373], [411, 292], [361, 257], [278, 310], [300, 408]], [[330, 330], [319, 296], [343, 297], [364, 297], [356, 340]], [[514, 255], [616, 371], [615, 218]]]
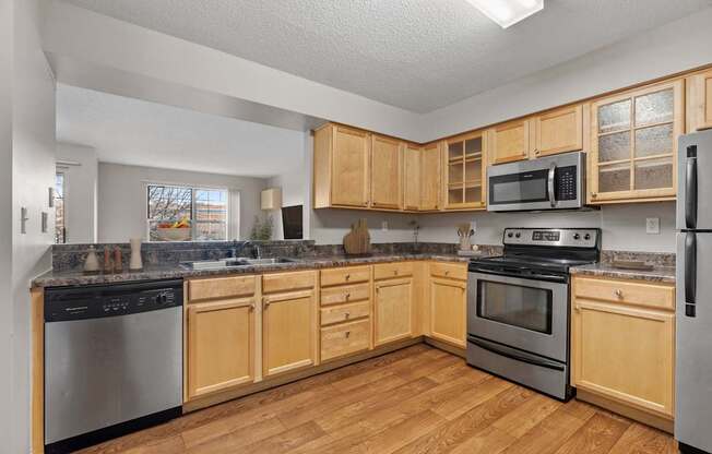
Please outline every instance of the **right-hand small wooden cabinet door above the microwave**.
[[583, 148], [583, 107], [565, 107], [535, 117], [536, 143], [534, 156], [548, 156], [557, 153]]

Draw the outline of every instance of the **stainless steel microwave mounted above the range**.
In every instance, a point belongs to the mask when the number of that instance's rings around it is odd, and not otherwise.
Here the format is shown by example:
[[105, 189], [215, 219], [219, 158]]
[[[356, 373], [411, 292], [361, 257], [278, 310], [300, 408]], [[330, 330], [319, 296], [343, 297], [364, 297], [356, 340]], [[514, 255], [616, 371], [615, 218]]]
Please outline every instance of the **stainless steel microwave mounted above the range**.
[[583, 152], [487, 168], [487, 211], [572, 210], [585, 201]]

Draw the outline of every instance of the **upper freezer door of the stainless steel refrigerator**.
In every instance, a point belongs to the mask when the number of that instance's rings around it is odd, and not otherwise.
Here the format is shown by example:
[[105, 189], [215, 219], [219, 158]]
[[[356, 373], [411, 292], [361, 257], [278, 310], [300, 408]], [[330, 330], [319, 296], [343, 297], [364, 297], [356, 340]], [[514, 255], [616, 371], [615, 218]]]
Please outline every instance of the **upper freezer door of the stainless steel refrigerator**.
[[712, 131], [680, 136], [677, 159], [677, 229], [712, 229]]

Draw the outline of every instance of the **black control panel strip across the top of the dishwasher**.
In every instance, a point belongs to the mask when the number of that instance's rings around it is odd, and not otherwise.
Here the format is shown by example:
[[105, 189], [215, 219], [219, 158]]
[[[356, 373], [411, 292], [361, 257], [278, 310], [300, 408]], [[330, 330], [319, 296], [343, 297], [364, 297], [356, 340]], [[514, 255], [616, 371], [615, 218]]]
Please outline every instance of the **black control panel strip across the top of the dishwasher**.
[[45, 291], [45, 322], [126, 315], [182, 306], [182, 280], [151, 280]]

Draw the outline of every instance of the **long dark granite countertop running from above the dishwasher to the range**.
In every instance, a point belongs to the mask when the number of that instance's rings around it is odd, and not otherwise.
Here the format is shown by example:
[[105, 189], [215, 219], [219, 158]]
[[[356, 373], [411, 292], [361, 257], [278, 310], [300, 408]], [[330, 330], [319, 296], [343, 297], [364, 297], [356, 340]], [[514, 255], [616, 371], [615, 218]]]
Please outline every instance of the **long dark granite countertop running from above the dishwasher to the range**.
[[295, 259], [295, 262], [275, 263], [270, 265], [239, 266], [221, 270], [190, 270], [180, 265], [170, 266], [146, 266], [140, 272], [111, 273], [111, 274], [85, 274], [80, 271], [50, 271], [32, 282], [34, 288], [80, 286], [91, 284], [126, 283], [147, 279], [168, 279], [182, 277], [201, 276], [225, 276], [234, 274], [260, 274], [277, 271], [313, 270], [336, 266], [397, 262], [406, 260], [435, 260], [443, 262], [467, 262], [468, 256], [442, 253], [397, 253], [397, 254], [373, 254], [369, 256], [309, 256]]

